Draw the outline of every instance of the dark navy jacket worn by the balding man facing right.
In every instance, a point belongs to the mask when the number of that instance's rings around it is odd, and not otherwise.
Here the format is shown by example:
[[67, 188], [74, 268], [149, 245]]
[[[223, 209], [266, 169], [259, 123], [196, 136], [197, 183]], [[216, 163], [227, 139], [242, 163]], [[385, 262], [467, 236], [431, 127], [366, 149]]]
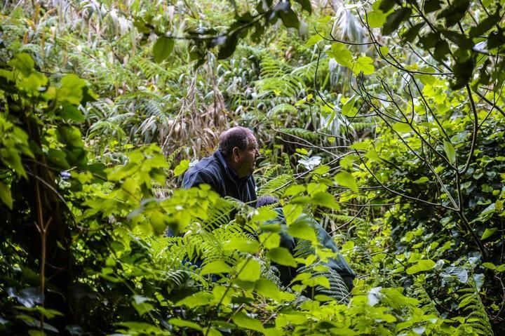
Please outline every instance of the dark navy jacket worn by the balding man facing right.
[[220, 151], [203, 158], [189, 168], [182, 178], [182, 189], [197, 187], [198, 184], [209, 184], [222, 197], [230, 196], [250, 206], [256, 203], [256, 184], [253, 175], [238, 178]]

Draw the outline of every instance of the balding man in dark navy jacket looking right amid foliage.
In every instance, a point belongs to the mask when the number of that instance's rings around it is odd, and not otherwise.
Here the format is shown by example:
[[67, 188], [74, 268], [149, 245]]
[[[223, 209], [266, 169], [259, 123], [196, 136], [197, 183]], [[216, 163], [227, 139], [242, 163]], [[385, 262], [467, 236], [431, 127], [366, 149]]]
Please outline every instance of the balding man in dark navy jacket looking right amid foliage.
[[182, 179], [182, 189], [209, 184], [222, 197], [255, 206], [256, 184], [253, 170], [260, 152], [256, 137], [248, 128], [236, 126], [220, 135], [219, 149], [189, 168]]

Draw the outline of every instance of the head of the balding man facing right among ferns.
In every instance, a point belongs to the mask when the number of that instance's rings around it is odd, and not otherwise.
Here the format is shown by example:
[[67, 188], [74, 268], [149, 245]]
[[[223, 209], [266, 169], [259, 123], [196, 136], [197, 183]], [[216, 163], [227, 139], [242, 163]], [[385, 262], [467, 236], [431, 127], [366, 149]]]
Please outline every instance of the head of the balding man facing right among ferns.
[[241, 126], [221, 133], [219, 151], [238, 177], [253, 173], [256, 159], [260, 156], [253, 132]]

